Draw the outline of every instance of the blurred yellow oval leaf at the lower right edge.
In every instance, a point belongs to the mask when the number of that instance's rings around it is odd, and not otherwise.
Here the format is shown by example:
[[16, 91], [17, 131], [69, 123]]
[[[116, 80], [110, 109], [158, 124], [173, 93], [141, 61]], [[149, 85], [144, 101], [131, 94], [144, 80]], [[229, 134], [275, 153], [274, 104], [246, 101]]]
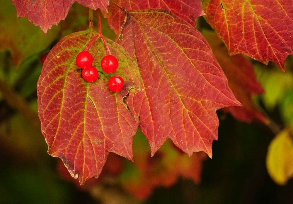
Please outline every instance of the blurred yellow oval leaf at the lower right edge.
[[266, 166], [275, 183], [285, 185], [293, 176], [293, 140], [288, 129], [281, 131], [271, 141]]

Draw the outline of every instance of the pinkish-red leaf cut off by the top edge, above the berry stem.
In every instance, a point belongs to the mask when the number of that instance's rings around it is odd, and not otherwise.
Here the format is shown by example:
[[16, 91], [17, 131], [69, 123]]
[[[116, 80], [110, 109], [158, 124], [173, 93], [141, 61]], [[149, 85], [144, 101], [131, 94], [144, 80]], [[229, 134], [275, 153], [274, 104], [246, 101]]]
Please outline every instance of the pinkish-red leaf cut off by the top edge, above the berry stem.
[[28, 17], [30, 22], [39, 25], [45, 33], [52, 25], [57, 25], [66, 18], [69, 8], [76, 1], [94, 10], [101, 8], [108, 11], [109, 0], [12, 0], [17, 17]]

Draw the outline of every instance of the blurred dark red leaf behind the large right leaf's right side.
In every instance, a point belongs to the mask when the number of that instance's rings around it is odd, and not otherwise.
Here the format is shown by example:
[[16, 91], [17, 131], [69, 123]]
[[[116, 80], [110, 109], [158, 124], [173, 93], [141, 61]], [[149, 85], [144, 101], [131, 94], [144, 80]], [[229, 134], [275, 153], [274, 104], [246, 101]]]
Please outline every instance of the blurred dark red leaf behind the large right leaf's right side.
[[253, 119], [258, 119], [263, 123], [267, 123], [268, 119], [256, 107], [252, 99], [253, 94], [262, 94], [264, 90], [256, 79], [250, 61], [243, 54], [229, 56], [226, 46], [215, 32], [203, 30], [202, 35], [205, 36], [205, 39], [212, 47], [217, 61], [227, 76], [229, 87], [236, 99], [242, 104], [242, 106], [230, 106], [222, 110], [230, 112], [236, 119], [241, 121], [251, 122]]

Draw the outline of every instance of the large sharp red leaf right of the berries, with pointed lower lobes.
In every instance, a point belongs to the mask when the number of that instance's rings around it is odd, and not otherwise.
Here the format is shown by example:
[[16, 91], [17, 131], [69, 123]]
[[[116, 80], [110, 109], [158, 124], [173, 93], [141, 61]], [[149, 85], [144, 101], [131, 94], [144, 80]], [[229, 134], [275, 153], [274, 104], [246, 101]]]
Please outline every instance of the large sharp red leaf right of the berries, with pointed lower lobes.
[[[216, 110], [239, 105], [201, 33], [164, 9], [129, 11], [118, 40], [136, 56], [143, 80], [127, 103], [154, 155], [167, 138], [189, 156], [212, 157]], [[118, 35], [120, 35], [118, 33]]]

